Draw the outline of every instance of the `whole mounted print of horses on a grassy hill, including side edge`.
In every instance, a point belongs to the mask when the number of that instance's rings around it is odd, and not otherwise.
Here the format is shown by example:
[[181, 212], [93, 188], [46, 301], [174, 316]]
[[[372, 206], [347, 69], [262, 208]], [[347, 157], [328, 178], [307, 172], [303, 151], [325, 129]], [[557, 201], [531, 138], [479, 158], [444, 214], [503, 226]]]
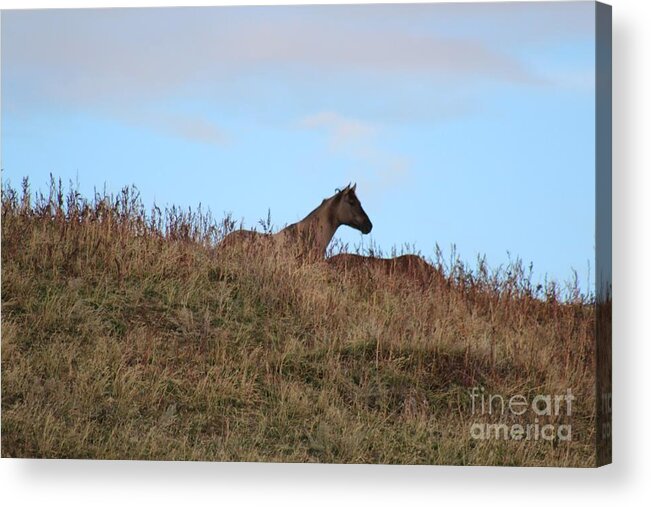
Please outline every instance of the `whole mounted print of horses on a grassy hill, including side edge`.
[[609, 462], [610, 59], [593, 2], [3, 12], [3, 457]]

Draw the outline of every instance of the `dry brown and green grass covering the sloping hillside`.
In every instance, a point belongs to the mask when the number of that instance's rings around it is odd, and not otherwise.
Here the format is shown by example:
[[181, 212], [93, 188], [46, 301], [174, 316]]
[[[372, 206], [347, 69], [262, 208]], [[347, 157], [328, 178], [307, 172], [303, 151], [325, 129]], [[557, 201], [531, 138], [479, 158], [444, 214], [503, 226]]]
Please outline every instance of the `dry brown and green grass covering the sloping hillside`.
[[[2, 456], [593, 466], [594, 310], [519, 263], [414, 290], [206, 213], [2, 196]], [[478, 441], [468, 390], [576, 396], [571, 442]]]

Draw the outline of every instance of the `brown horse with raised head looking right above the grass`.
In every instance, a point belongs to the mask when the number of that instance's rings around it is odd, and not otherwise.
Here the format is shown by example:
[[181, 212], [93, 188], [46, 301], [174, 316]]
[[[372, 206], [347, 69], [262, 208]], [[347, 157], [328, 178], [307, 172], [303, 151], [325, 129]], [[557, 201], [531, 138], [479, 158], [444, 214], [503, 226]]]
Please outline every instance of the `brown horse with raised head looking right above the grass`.
[[323, 199], [321, 204], [303, 220], [288, 225], [275, 234], [240, 229], [227, 234], [217, 245], [224, 251], [233, 247], [250, 248], [271, 242], [283, 249], [295, 249], [298, 257], [323, 259], [328, 244], [337, 229], [347, 225], [362, 234], [368, 234], [373, 224], [362, 208], [355, 189], [348, 184], [337, 190], [332, 197]]

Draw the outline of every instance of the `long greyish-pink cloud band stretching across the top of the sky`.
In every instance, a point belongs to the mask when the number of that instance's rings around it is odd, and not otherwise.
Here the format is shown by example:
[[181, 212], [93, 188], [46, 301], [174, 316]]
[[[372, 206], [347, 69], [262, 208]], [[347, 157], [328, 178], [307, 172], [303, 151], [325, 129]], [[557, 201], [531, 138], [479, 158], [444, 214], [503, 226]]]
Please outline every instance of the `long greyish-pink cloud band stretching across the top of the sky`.
[[540, 83], [526, 62], [486, 41], [410, 28], [431, 7], [402, 6], [400, 16], [378, 6], [9, 11], [3, 85], [13, 82], [26, 102], [110, 107], [251, 74]]

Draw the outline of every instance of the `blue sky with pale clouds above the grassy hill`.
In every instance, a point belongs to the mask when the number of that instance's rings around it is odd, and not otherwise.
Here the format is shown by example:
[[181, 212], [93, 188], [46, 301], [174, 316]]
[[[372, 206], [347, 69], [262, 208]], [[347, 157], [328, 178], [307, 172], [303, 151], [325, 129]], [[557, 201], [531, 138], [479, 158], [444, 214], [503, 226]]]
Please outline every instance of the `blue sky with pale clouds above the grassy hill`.
[[592, 2], [5, 11], [3, 179], [250, 226], [353, 181], [365, 245], [586, 287], [594, 36]]

